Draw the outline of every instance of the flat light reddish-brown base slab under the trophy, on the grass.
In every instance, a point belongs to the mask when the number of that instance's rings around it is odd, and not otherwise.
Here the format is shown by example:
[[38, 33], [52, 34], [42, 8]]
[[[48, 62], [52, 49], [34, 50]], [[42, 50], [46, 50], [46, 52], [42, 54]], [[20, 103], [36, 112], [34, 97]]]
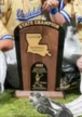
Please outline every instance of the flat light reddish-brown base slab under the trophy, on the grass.
[[28, 98], [30, 96], [30, 93], [37, 92], [42, 93], [43, 95], [50, 97], [50, 98], [64, 98], [64, 94], [61, 91], [22, 91], [17, 90], [15, 92], [15, 96], [18, 98]]

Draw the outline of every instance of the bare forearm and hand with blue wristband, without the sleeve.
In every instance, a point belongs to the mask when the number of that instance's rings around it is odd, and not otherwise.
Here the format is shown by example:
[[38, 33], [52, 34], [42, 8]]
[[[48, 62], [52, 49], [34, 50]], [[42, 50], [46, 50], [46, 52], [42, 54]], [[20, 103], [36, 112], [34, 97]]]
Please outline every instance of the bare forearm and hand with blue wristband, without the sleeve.
[[58, 0], [46, 0], [43, 4], [43, 10], [48, 11], [52, 22], [63, 25], [66, 23], [64, 16], [59, 12]]

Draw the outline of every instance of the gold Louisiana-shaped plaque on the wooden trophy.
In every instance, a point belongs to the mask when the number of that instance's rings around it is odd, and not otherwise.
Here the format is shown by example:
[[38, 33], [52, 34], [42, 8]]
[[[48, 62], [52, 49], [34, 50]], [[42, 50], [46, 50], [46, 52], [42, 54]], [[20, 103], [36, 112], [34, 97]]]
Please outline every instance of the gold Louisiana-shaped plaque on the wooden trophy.
[[40, 33], [31, 33], [26, 35], [26, 40], [28, 43], [27, 52], [32, 54], [38, 54], [40, 56], [51, 56], [47, 44], [41, 44], [42, 35]]

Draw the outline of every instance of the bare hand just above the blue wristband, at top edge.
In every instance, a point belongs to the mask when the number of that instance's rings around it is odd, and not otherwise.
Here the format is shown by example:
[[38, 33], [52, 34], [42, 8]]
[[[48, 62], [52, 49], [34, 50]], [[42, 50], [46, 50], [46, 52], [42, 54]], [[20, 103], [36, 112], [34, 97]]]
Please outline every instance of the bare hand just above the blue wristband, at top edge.
[[44, 11], [50, 11], [51, 8], [58, 7], [59, 2], [58, 0], [45, 0], [42, 8]]

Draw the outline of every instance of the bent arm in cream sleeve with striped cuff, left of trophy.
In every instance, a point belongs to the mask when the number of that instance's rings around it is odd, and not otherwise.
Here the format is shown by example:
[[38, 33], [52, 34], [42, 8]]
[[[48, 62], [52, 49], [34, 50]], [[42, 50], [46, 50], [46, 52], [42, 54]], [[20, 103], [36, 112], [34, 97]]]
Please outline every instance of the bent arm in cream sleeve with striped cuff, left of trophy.
[[0, 20], [0, 50], [6, 51], [13, 48], [13, 37]]

